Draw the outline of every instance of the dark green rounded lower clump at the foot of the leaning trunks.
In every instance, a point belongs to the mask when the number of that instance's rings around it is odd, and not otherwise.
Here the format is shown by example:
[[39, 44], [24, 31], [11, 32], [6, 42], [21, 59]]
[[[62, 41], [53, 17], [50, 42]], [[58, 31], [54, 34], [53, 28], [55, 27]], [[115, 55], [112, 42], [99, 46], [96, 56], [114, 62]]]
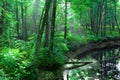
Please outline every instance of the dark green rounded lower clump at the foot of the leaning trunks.
[[54, 71], [61, 66], [63, 66], [65, 61], [64, 55], [58, 50], [54, 50], [53, 54], [48, 54], [48, 51], [45, 49], [42, 50], [42, 53], [39, 55], [39, 66], [41, 70], [50, 70]]

